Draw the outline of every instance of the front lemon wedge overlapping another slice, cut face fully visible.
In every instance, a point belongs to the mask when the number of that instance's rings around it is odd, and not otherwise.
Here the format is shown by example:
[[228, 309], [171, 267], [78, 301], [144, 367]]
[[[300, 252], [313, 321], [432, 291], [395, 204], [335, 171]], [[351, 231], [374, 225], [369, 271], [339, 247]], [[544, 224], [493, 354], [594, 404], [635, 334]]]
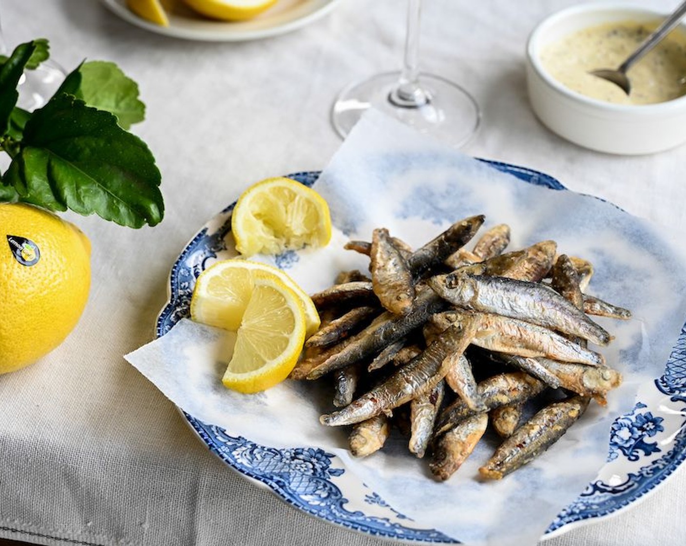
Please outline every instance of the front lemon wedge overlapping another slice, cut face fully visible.
[[305, 342], [300, 298], [274, 275], [255, 272], [250, 301], [238, 328], [222, 383], [242, 393], [263, 391], [295, 367]]

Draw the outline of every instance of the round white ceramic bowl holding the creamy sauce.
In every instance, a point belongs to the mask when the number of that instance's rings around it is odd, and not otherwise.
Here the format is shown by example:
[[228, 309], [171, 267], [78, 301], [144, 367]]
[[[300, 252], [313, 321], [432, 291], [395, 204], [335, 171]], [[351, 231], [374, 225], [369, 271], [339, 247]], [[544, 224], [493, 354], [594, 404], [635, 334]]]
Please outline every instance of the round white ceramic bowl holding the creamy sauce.
[[[582, 28], [664, 16], [624, 3], [584, 3], [541, 21], [526, 48], [529, 99], [539, 120], [575, 144], [613, 154], [650, 154], [686, 142], [686, 96], [637, 106], [595, 100], [554, 80], [539, 58], [545, 45]], [[686, 30], [683, 24], [681, 28]]]

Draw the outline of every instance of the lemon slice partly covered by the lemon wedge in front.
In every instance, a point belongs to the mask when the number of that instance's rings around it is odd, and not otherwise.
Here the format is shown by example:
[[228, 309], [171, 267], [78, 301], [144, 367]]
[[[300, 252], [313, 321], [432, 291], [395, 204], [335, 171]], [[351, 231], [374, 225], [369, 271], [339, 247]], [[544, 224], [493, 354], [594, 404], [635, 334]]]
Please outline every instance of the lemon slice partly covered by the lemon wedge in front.
[[200, 273], [191, 297], [191, 319], [238, 330], [259, 272], [276, 277], [296, 294], [305, 310], [306, 334], [314, 334], [320, 325], [319, 314], [303, 288], [277, 267], [241, 258], [216, 262]]

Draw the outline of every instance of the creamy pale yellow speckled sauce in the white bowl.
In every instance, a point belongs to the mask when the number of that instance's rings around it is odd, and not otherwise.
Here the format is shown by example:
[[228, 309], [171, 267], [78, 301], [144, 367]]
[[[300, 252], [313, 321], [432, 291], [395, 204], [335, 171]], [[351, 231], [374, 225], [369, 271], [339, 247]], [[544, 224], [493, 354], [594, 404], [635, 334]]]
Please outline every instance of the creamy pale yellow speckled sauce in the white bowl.
[[545, 70], [565, 87], [617, 104], [652, 104], [686, 95], [686, 36], [673, 30], [627, 72], [631, 93], [592, 76], [596, 69], [616, 69], [656, 25], [635, 21], [606, 23], [580, 30], [541, 52]]

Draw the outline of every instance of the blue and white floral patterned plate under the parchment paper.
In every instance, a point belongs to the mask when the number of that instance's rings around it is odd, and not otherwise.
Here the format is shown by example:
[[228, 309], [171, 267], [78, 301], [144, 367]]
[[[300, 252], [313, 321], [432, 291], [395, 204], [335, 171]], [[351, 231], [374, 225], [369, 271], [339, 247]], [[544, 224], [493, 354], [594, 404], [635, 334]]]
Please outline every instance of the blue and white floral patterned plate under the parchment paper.
[[[527, 168], [486, 161], [521, 181], [565, 190], [556, 179]], [[289, 177], [312, 185], [319, 172]], [[189, 317], [193, 286], [200, 273], [216, 260], [230, 258], [230, 217], [233, 206], [204, 225], [171, 268], [169, 302], [158, 316], [161, 337]], [[228, 239], [228, 244], [227, 244]], [[564, 508], [544, 538], [571, 527], [615, 514], [646, 497], [686, 458], [686, 325], [674, 345], [664, 374], [639, 389], [635, 407], [613, 423], [608, 458], [598, 477]], [[458, 543], [436, 530], [418, 526], [377, 493], [346, 473], [344, 464], [319, 448], [273, 448], [237, 437], [220, 427], [184, 413], [202, 441], [226, 464], [270, 488], [296, 508], [343, 527], [375, 536], [419, 543]]]

